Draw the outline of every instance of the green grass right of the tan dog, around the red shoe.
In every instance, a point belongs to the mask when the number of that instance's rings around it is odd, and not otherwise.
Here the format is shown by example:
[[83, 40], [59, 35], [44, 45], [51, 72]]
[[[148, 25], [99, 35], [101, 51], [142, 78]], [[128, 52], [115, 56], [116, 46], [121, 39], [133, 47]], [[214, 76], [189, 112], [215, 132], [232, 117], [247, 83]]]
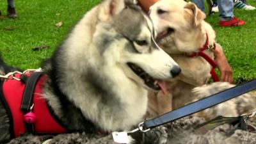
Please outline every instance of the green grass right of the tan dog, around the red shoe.
[[[248, 1], [256, 6], [256, 1]], [[246, 20], [241, 27], [221, 28], [218, 25], [219, 13], [207, 17], [217, 33], [217, 42], [225, 51], [228, 62], [233, 68], [236, 83], [243, 83], [256, 78], [256, 10], [234, 10], [236, 17]]]

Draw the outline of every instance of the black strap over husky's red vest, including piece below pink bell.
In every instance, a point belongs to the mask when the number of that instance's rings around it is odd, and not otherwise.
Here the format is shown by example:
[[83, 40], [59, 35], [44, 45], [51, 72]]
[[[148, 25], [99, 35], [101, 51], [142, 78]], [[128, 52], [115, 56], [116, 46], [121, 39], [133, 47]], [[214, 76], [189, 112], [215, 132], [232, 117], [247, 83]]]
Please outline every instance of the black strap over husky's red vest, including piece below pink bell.
[[[44, 74], [44, 72], [33, 72], [31, 76], [26, 76], [22, 74], [20, 76], [20, 81], [25, 83], [25, 90], [23, 92], [22, 103], [20, 109], [22, 110], [23, 114], [25, 115], [29, 111], [31, 111], [31, 106], [33, 105], [33, 96], [35, 92], [36, 82], [38, 79]], [[35, 125], [27, 124], [24, 122], [24, 127], [26, 132], [35, 132]]]

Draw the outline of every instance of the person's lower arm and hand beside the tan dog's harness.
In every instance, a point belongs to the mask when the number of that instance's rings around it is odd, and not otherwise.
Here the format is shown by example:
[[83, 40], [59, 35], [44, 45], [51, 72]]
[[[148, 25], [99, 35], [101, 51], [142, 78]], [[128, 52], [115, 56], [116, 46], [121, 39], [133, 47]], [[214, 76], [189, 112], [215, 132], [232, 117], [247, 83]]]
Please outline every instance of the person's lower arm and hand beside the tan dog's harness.
[[233, 71], [230, 67], [227, 58], [222, 51], [222, 49], [218, 46], [216, 46], [216, 49], [214, 51], [215, 61], [217, 64], [218, 69], [221, 73], [221, 79], [220, 81], [226, 81], [228, 83], [233, 83]]

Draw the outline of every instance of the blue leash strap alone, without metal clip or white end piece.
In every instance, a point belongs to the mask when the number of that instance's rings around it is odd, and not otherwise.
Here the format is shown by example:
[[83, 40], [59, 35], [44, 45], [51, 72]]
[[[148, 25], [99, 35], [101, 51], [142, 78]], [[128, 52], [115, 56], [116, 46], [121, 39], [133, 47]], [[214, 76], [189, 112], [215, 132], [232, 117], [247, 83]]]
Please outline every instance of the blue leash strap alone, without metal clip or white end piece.
[[172, 122], [179, 118], [183, 118], [184, 116], [191, 115], [198, 111], [202, 111], [204, 109], [215, 106], [216, 104], [220, 104], [221, 102], [225, 102], [227, 100], [238, 97], [239, 95], [242, 95], [246, 92], [250, 92], [255, 88], [256, 88], [256, 79], [253, 79], [252, 81], [249, 81], [247, 83], [234, 86], [232, 88], [224, 90], [223, 92], [219, 92], [209, 97], [205, 97], [204, 99], [200, 99], [191, 104], [187, 104], [186, 106], [170, 111], [169, 113], [166, 113], [159, 117], [153, 118], [151, 120], [146, 120], [143, 123], [142, 127], [143, 129], [151, 129], [159, 125]]

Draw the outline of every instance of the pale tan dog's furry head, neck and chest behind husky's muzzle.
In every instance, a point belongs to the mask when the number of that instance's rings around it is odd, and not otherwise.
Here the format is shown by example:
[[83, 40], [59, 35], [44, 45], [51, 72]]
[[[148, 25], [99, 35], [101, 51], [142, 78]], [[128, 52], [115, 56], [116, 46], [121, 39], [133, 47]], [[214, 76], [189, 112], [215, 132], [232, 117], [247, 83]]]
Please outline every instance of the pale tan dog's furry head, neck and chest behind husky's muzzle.
[[[167, 13], [157, 15], [159, 8], [163, 8]], [[150, 8], [150, 17], [156, 26], [157, 33], [161, 33], [168, 27], [174, 29], [174, 33], [163, 38], [159, 44], [164, 51], [172, 56], [173, 60], [179, 63], [182, 69], [178, 77], [166, 81], [168, 93], [165, 95], [162, 92], [150, 93], [149, 109], [154, 109], [154, 111], [158, 111], [157, 115], [161, 115], [193, 100], [190, 97], [191, 90], [208, 81], [211, 65], [201, 57], [189, 58], [184, 56], [184, 53], [194, 52], [202, 47], [206, 40], [205, 33], [209, 36], [209, 44], [214, 44], [215, 33], [211, 26], [204, 21], [205, 14], [195, 4], [181, 0], [157, 2]], [[205, 53], [213, 58], [211, 51], [205, 51]], [[155, 95], [156, 98], [152, 99], [152, 95]], [[168, 104], [168, 102], [170, 103]], [[157, 106], [153, 107], [156, 104]]]

